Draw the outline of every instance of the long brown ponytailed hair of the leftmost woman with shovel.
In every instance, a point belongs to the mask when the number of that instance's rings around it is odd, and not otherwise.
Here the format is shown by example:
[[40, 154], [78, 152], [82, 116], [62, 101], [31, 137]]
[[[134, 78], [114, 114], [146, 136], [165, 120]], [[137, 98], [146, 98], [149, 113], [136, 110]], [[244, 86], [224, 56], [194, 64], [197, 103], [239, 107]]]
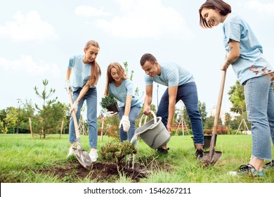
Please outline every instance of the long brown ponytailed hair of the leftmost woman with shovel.
[[[96, 42], [95, 40], [89, 40], [89, 42], [86, 42], [85, 49], [89, 49], [90, 46], [95, 46], [98, 49], [100, 49], [98, 42]], [[89, 84], [91, 86], [95, 86], [98, 82], [100, 75], [101, 75], [100, 66], [98, 65], [97, 61], [94, 60], [91, 63], [91, 77], [89, 78]]]

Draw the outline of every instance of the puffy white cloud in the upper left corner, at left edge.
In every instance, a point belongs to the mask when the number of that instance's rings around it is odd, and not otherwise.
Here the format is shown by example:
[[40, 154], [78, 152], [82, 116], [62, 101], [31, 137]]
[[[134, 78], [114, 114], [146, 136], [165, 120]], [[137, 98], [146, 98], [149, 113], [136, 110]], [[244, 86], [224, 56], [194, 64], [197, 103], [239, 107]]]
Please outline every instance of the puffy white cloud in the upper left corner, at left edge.
[[13, 19], [0, 26], [0, 38], [7, 37], [15, 42], [44, 42], [48, 39], [58, 39], [54, 28], [50, 23], [41, 20], [37, 11], [30, 11], [26, 15], [18, 12], [13, 15]]

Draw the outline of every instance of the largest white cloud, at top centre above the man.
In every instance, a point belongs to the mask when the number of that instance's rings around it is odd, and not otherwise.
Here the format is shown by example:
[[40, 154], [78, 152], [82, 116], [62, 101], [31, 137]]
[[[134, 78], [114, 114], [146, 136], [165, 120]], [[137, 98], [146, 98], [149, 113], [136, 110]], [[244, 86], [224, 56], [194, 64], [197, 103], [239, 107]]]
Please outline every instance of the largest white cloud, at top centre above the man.
[[115, 37], [155, 38], [164, 35], [188, 39], [192, 32], [185, 19], [174, 8], [163, 6], [160, 0], [116, 0], [120, 15], [93, 24]]

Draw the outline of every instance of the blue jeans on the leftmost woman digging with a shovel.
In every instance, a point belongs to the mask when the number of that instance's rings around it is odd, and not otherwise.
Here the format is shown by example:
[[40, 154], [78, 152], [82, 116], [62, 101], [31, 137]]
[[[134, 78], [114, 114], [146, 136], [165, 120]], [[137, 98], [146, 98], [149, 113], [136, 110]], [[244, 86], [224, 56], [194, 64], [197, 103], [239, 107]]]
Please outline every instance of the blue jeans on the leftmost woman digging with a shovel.
[[[81, 88], [74, 91], [72, 94], [73, 101], [75, 101]], [[79, 101], [78, 103], [78, 110], [76, 113], [77, 122], [79, 122], [79, 117], [81, 114], [81, 107], [83, 106], [84, 100], [86, 100], [86, 107], [87, 107], [87, 120], [88, 120], [88, 127], [89, 127], [89, 148], [96, 148], [97, 147], [97, 90], [96, 88], [90, 88], [89, 91], [86, 92], [86, 95]], [[69, 135], [70, 143], [76, 142], [76, 134], [74, 129], [74, 122], [72, 116], [70, 116], [70, 135]]]

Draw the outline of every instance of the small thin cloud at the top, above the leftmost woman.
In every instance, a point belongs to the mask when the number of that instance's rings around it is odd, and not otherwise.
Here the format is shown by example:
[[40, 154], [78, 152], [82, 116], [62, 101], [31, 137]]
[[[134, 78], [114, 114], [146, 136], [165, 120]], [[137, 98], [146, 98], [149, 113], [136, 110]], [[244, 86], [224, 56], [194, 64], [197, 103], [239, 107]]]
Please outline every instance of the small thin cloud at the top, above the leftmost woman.
[[103, 9], [98, 10], [91, 6], [78, 6], [75, 8], [74, 13], [85, 17], [110, 15], [110, 13], [103, 11]]

